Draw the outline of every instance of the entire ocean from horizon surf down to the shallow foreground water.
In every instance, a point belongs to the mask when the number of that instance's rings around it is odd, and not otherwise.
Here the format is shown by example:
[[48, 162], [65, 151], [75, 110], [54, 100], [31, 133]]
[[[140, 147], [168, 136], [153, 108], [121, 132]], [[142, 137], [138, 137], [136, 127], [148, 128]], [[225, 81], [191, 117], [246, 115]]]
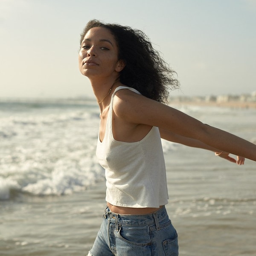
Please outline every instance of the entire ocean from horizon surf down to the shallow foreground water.
[[[256, 143], [256, 109], [174, 107]], [[94, 99], [0, 99], [1, 256], [87, 254], [105, 207], [98, 129]], [[255, 256], [256, 163], [162, 143], [180, 255]]]

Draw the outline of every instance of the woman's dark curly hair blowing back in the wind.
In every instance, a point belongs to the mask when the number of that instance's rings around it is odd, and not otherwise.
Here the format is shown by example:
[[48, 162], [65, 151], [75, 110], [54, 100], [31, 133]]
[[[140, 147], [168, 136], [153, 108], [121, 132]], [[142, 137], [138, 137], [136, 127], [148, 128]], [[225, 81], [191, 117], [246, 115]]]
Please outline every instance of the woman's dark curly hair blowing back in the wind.
[[119, 59], [125, 62], [125, 68], [119, 77], [122, 84], [133, 87], [143, 96], [158, 102], [166, 102], [169, 89], [179, 87], [179, 82], [173, 78], [176, 72], [169, 68], [141, 30], [90, 20], [81, 33], [80, 46], [85, 34], [93, 27], [104, 27], [114, 35]]

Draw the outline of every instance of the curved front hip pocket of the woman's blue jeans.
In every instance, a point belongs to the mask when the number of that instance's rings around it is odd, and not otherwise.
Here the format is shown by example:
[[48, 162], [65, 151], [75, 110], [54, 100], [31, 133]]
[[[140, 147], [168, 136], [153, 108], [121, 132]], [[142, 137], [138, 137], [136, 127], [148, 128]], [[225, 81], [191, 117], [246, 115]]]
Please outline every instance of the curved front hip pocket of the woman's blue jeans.
[[151, 245], [150, 228], [148, 226], [122, 225], [117, 236], [128, 244], [140, 246]]

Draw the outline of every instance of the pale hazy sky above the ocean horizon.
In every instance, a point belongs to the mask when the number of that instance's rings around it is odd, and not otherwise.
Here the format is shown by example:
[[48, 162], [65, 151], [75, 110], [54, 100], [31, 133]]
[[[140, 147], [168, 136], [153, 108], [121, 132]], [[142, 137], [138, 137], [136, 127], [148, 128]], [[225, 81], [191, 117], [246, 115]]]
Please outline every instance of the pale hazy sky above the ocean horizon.
[[175, 96], [256, 90], [256, 0], [0, 0], [0, 97], [92, 96], [78, 51], [94, 18], [143, 30]]

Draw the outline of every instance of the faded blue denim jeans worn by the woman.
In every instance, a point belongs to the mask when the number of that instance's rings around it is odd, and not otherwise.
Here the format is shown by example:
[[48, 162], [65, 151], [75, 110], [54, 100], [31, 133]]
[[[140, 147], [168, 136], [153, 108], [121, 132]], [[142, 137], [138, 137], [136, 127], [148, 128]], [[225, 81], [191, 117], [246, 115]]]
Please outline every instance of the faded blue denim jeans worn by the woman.
[[166, 208], [145, 215], [121, 215], [105, 208], [88, 256], [177, 256], [178, 237]]

